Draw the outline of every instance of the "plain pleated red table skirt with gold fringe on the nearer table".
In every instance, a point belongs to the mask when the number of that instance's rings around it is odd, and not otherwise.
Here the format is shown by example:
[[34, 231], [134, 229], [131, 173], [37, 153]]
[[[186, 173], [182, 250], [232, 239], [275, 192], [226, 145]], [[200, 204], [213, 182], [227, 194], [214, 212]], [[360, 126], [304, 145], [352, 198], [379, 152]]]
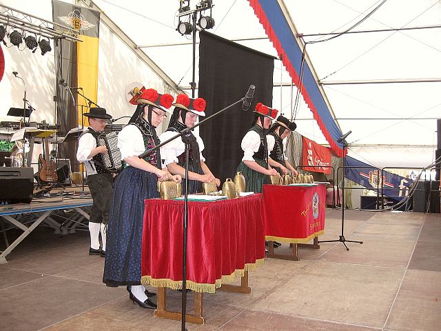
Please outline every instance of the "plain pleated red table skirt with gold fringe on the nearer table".
[[[184, 202], [145, 200], [142, 283], [182, 288]], [[188, 202], [187, 288], [214, 293], [265, 259], [262, 194]]]

